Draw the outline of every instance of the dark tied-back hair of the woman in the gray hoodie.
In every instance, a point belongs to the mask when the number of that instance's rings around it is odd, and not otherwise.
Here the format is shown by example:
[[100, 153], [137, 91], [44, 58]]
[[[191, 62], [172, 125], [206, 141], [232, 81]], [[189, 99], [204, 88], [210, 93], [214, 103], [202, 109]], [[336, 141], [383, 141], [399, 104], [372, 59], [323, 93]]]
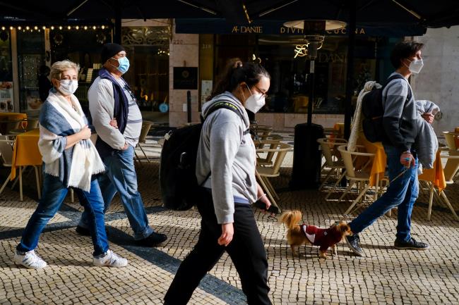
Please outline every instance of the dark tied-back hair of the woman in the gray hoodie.
[[231, 58], [225, 70], [217, 77], [210, 99], [225, 91], [232, 92], [241, 82], [252, 87], [258, 84], [262, 76], [270, 78], [268, 71], [259, 63], [242, 63], [239, 58]]

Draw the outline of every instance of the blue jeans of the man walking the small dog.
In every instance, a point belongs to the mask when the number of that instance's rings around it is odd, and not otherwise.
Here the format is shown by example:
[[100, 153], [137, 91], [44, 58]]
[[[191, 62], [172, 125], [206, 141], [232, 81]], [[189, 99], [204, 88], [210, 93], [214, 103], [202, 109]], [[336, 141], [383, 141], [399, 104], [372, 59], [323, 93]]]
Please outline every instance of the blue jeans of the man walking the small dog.
[[[384, 146], [386, 151], [387, 165], [389, 171], [389, 180], [393, 180], [406, 168], [400, 163], [400, 155], [402, 150], [395, 147]], [[374, 223], [376, 219], [383, 216], [391, 208], [398, 206], [398, 224], [397, 224], [397, 239], [400, 242], [407, 242], [411, 239], [411, 213], [413, 205], [419, 193], [419, 185], [417, 182], [417, 167], [419, 161], [416, 154], [415, 166], [411, 166], [399, 178], [395, 179], [389, 185], [386, 193], [383, 194], [378, 200], [374, 201], [371, 206], [366, 208], [362, 214], [357, 216], [349, 224], [352, 232], [358, 234], [366, 227]]]

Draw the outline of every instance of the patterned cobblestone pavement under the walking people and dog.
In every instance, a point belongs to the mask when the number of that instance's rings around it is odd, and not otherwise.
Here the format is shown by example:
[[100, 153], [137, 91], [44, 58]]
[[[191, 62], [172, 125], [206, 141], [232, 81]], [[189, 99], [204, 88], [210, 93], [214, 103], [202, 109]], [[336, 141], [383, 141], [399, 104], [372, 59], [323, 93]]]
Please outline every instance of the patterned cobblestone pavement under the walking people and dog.
[[[153, 159], [159, 151], [148, 143], [146, 150]], [[287, 188], [290, 162], [291, 156], [280, 178], [272, 180], [281, 197], [280, 207], [298, 208], [305, 223], [322, 227], [342, 219], [349, 202], [326, 201], [325, 192]], [[37, 206], [33, 175], [25, 178], [30, 182], [25, 183], [22, 202], [17, 189], [7, 187], [0, 195], [0, 304], [162, 304], [180, 261], [196, 243], [200, 217], [196, 210], [175, 212], [161, 207], [157, 172], [157, 162], [138, 166], [139, 189], [150, 224], [168, 235], [165, 243], [156, 248], [136, 247], [118, 197], [107, 213], [110, 247], [129, 259], [126, 268], [92, 266], [90, 238], [75, 232], [82, 208], [68, 198], [40, 238], [37, 253], [47, 261], [47, 268], [15, 266], [14, 248]], [[448, 186], [446, 194], [459, 210], [458, 185]], [[427, 221], [427, 201], [422, 194], [415, 205], [412, 235], [431, 244], [431, 249], [393, 248], [394, 211], [362, 232], [364, 257], [354, 256], [340, 244], [338, 256], [329, 255], [327, 260], [319, 259], [316, 247], [309, 246], [292, 256], [285, 227], [256, 211], [268, 253], [273, 304], [459, 304], [459, 222], [440, 203], [434, 204], [431, 221]], [[359, 211], [362, 208], [352, 215]], [[227, 255], [201, 282], [190, 304], [245, 304], [239, 277]]]

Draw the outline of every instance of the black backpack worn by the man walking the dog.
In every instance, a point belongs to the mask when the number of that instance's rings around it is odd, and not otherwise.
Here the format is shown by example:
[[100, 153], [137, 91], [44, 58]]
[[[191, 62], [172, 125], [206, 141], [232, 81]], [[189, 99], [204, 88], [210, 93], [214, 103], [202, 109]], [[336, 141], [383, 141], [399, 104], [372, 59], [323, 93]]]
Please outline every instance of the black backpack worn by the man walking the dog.
[[[362, 127], [364, 129], [364, 135], [369, 142], [388, 142], [388, 137], [384, 131], [383, 125], [383, 89], [392, 80], [405, 77], [399, 74], [392, 75], [389, 77], [381, 88], [373, 87], [370, 92], [364, 95], [362, 99], [362, 114], [364, 119], [362, 121]], [[411, 99], [411, 90], [408, 90], [407, 100]], [[405, 101], [405, 102], [406, 102]]]

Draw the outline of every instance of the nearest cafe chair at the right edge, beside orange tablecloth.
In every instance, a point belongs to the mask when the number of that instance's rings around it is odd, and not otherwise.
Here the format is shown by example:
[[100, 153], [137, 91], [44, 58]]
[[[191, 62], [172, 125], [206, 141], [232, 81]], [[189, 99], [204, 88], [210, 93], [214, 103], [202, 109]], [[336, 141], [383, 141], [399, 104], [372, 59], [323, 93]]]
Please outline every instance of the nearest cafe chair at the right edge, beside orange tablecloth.
[[[443, 173], [445, 175], [446, 185], [452, 185], [454, 183], [453, 178], [459, 171], [459, 153], [453, 150], [446, 150], [447, 154], [441, 154], [441, 158], [446, 158], [446, 163], [443, 168]], [[424, 183], [429, 189], [429, 208], [427, 210], [427, 220], [430, 220], [432, 213], [432, 204], [434, 202], [434, 195], [440, 201], [443, 201], [446, 206], [453, 213], [455, 220], [459, 220], [458, 214], [455, 213], [451, 202], [445, 194], [445, 189], [442, 189], [441, 192], [437, 192], [434, 186], [434, 183], [431, 181], [419, 180], [419, 183]]]

